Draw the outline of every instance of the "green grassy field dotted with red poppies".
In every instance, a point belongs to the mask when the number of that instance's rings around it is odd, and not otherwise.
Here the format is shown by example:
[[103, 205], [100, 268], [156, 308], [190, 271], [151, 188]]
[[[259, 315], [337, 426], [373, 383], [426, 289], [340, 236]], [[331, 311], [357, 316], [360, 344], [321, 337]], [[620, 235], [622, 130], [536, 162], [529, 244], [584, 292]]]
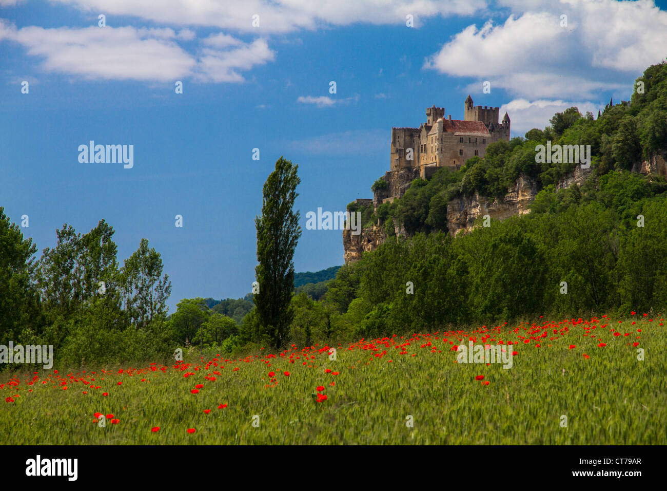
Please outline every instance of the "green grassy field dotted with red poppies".
[[[458, 363], [470, 341], [511, 349], [512, 367]], [[634, 314], [23, 367], [0, 374], [0, 443], [666, 444], [666, 345], [664, 319]]]

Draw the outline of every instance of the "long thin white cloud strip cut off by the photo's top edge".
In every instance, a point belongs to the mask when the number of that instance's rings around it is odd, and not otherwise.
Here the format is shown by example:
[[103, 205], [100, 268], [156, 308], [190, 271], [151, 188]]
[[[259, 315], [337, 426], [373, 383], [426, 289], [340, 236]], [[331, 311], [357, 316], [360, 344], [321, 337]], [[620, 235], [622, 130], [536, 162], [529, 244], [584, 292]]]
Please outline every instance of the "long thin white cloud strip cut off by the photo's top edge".
[[[2, 0], [7, 1], [7, 0]], [[258, 35], [353, 23], [405, 25], [406, 15], [472, 15], [485, 0], [53, 0], [83, 11], [129, 15], [171, 25], [219, 27]], [[259, 27], [252, 16], [259, 15]], [[418, 24], [416, 24], [418, 25]]]

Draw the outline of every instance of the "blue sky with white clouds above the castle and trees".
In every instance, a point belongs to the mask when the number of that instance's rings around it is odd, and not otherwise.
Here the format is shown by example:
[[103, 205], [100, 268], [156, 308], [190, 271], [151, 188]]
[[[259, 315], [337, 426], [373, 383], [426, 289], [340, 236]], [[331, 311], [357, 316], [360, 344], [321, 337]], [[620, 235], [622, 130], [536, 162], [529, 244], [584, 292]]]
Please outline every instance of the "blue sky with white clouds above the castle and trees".
[[[87, 232], [101, 218], [121, 264], [149, 239], [170, 311], [250, 291], [253, 220], [279, 156], [301, 177], [295, 269], [317, 271], [342, 264], [342, 235], [306, 230], [306, 212], [372, 197], [392, 126], [419, 126], [432, 104], [462, 119], [471, 94], [523, 136], [571, 105], [629, 100], [667, 56], [664, 1], [135, 3], [0, 0], [0, 206], [29, 216], [40, 253], [64, 223]], [[80, 163], [89, 140], [133, 144], [133, 168]]]

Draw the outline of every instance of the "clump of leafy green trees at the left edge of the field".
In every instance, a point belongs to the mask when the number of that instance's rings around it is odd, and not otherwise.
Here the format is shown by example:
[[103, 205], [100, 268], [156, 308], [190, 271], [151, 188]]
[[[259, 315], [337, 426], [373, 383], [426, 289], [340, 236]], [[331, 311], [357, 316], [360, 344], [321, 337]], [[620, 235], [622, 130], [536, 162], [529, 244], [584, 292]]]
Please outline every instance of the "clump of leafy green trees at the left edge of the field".
[[104, 220], [85, 234], [65, 224], [34, 263], [35, 246], [0, 208], [0, 344], [53, 345], [68, 365], [173, 353], [159, 253], [142, 239], [119, 268], [113, 234]]

